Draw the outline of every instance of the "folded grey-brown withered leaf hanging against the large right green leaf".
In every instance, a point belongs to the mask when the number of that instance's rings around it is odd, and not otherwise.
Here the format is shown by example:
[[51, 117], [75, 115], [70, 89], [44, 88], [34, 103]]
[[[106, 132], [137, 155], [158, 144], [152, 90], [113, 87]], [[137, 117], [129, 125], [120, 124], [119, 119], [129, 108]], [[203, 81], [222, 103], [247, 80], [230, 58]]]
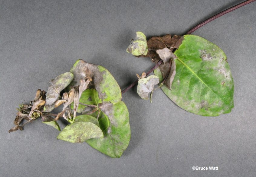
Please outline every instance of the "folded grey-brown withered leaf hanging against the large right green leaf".
[[[170, 68], [170, 65], [171, 65], [171, 68]], [[163, 78], [165, 78], [166, 75], [169, 73], [164, 84], [167, 86], [167, 88], [169, 90], [171, 90], [172, 82], [173, 82], [175, 74], [176, 74], [176, 65], [175, 65], [174, 59], [171, 58], [171, 60], [169, 62], [162, 63], [160, 65], [160, 70], [162, 72]]]

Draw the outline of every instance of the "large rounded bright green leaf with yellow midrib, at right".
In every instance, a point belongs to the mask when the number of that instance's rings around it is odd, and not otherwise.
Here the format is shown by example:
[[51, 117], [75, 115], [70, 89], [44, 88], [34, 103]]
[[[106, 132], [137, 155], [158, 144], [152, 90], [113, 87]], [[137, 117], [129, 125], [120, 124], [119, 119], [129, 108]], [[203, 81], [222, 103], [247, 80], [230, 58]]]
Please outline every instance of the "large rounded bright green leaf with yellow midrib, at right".
[[[234, 82], [225, 53], [199, 36], [185, 35], [174, 54], [176, 75], [172, 90], [163, 92], [179, 107], [204, 116], [228, 113], [234, 107]], [[162, 81], [159, 68], [154, 70]]]

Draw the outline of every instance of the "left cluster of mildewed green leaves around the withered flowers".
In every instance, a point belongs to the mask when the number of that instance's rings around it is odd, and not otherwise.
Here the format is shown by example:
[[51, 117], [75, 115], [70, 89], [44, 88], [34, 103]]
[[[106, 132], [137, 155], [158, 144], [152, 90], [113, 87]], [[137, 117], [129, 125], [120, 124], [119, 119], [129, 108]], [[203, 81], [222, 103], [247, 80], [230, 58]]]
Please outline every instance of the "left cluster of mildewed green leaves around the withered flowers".
[[[74, 122], [60, 132], [57, 138], [72, 143], [86, 141], [90, 146], [110, 157], [120, 157], [130, 141], [129, 112], [121, 101], [119, 85], [110, 72], [102, 66], [80, 59], [70, 72], [51, 80], [44, 112], [54, 109], [57, 100], [60, 99], [61, 90], [64, 88], [70, 90], [79, 85], [80, 80], [85, 77], [91, 77], [92, 84], [81, 94], [79, 102], [96, 106], [99, 117], [96, 118], [96, 112], [90, 115], [79, 115], [75, 117]], [[89, 106], [82, 104], [78, 106], [77, 112], [90, 111]], [[42, 120], [60, 130], [59, 125], [53, 119]]]

